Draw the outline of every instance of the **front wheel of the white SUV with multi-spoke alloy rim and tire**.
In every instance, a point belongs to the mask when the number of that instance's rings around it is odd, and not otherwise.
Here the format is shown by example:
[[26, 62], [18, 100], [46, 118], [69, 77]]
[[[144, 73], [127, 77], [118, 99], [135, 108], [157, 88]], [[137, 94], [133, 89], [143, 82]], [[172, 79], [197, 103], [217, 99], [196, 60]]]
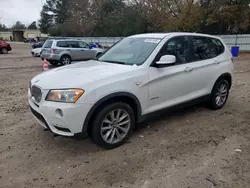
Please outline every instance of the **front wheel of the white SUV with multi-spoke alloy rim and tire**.
[[[120, 121], [117, 121], [117, 116], [120, 117]], [[123, 119], [121, 119], [122, 117]], [[109, 104], [104, 106], [95, 116], [90, 137], [98, 146], [114, 149], [126, 141], [134, 126], [134, 112], [128, 104], [122, 102]]]

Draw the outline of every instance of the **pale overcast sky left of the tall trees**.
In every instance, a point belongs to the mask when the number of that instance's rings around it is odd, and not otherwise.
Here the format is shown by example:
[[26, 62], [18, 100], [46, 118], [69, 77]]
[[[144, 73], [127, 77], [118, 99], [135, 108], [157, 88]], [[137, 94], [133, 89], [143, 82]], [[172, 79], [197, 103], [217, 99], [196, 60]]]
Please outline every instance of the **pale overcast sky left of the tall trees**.
[[0, 23], [11, 27], [16, 21], [26, 26], [40, 18], [45, 0], [0, 0]]

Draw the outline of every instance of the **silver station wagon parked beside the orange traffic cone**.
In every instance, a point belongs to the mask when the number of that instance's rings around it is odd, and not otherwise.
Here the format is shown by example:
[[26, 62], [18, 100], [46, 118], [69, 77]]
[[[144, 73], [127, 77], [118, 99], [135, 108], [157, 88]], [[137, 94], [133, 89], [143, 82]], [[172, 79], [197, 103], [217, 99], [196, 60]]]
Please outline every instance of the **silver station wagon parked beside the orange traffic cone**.
[[104, 52], [101, 48], [92, 48], [83, 40], [50, 39], [47, 40], [41, 52], [41, 58], [46, 58], [52, 65], [68, 65], [72, 61], [89, 60]]

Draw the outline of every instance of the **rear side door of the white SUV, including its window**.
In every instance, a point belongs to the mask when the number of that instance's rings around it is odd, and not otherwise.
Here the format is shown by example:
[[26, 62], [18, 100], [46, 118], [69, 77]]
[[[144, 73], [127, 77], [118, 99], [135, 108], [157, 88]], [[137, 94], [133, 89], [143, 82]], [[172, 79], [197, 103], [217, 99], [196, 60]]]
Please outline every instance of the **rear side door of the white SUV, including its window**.
[[210, 94], [211, 85], [217, 75], [219, 64], [223, 61], [224, 46], [215, 38], [194, 36], [191, 37], [190, 67], [195, 74], [192, 90], [199, 95]]

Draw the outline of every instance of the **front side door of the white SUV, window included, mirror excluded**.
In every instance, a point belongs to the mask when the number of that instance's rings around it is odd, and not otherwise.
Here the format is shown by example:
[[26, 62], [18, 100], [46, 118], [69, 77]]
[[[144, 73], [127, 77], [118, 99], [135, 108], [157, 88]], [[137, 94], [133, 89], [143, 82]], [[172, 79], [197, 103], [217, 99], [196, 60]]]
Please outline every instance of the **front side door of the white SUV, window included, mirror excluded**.
[[181, 36], [169, 39], [155, 59], [156, 63], [163, 55], [174, 55], [176, 63], [158, 68], [156, 64], [149, 69], [149, 108], [148, 113], [189, 101], [195, 97], [192, 90], [194, 79], [190, 63], [189, 37]]

